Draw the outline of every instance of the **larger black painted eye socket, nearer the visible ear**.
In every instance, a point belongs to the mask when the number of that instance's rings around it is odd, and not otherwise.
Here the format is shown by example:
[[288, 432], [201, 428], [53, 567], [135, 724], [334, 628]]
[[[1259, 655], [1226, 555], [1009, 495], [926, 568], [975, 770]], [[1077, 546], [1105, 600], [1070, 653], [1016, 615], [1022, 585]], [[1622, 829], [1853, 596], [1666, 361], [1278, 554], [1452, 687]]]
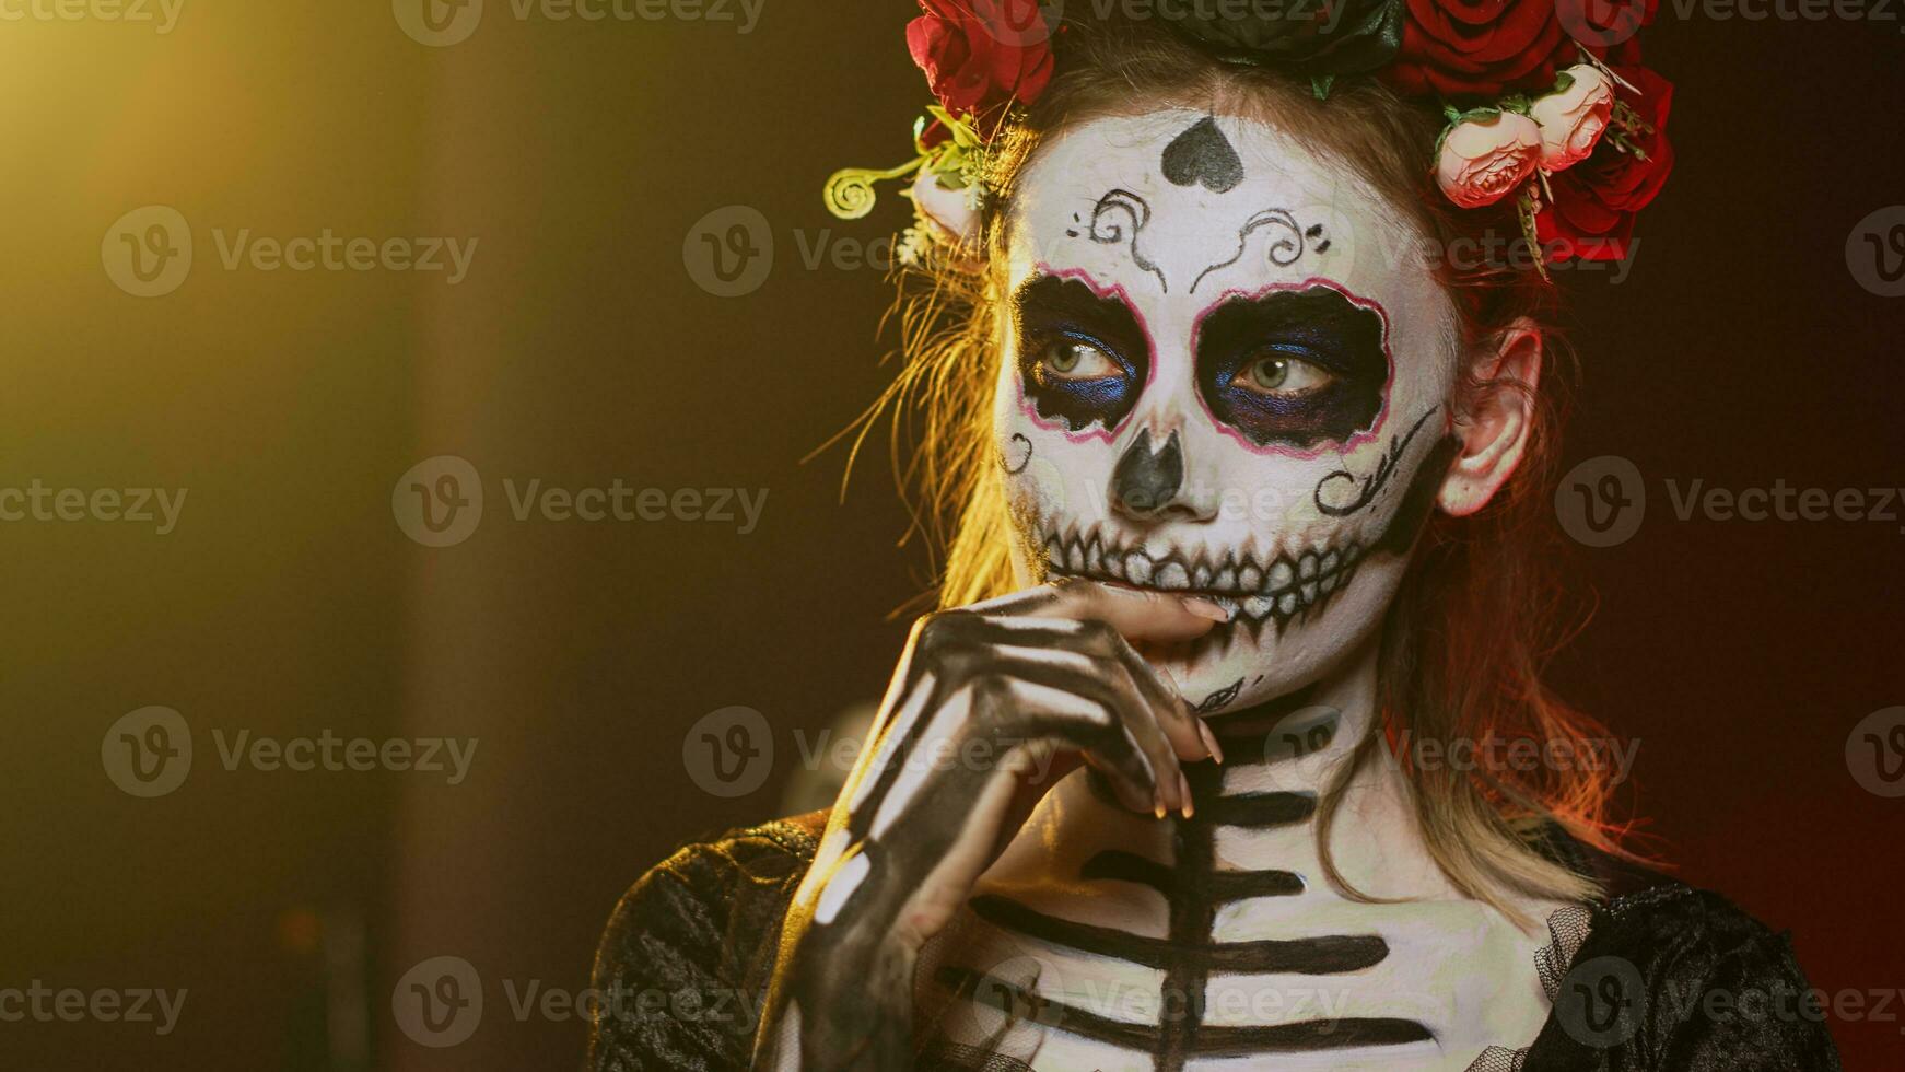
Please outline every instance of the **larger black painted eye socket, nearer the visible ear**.
[[1234, 297], [1198, 326], [1196, 377], [1212, 415], [1257, 446], [1345, 442], [1383, 409], [1383, 320], [1322, 286]]

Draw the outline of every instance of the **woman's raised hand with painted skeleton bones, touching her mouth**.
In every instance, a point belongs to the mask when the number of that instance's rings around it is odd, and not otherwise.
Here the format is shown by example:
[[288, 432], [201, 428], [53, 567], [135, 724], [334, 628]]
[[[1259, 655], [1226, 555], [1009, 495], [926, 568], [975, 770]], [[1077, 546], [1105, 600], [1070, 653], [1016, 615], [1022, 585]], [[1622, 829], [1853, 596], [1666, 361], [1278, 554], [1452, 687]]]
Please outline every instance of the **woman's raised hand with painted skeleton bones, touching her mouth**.
[[1229, 615], [1061, 581], [920, 619], [787, 912], [756, 1068], [909, 1068], [912, 965], [1033, 805], [1088, 762], [1135, 811], [1189, 813], [1210, 729], [1132, 642]]

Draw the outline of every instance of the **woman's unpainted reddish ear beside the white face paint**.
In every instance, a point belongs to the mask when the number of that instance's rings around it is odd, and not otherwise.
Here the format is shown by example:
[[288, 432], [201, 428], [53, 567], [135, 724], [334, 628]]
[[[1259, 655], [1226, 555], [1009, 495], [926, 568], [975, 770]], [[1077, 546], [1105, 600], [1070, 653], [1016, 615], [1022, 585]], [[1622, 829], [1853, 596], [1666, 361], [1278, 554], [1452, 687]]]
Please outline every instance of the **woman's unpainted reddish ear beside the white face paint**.
[[1455, 421], [1461, 455], [1442, 480], [1436, 505], [1444, 514], [1469, 516], [1509, 482], [1528, 447], [1535, 388], [1541, 383], [1541, 328], [1522, 316], [1471, 354], [1469, 371], [1480, 385]]

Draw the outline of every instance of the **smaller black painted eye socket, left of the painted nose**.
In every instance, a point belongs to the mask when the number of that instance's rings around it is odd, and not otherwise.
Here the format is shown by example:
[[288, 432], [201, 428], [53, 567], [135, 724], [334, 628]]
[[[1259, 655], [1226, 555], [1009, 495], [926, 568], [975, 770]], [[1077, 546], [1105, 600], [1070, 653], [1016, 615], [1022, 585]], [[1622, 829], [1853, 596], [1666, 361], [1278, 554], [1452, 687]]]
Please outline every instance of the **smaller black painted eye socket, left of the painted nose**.
[[1145, 333], [1130, 307], [1080, 280], [1038, 276], [1013, 295], [1025, 396], [1069, 430], [1118, 425], [1145, 383]]

